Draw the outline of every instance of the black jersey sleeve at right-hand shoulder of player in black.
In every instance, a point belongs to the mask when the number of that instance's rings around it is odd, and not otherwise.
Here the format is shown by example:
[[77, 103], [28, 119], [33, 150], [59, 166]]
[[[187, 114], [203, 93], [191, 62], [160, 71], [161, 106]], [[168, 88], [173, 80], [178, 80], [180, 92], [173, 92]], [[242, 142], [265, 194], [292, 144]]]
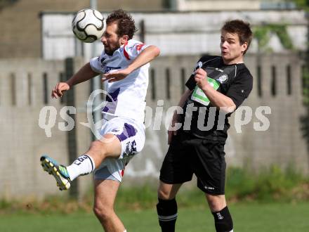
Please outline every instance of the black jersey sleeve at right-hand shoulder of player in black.
[[232, 82], [228, 92], [225, 94], [235, 103], [236, 108], [239, 107], [246, 99], [253, 86], [253, 77], [249, 72], [240, 72], [237, 77], [235, 77], [234, 82]]

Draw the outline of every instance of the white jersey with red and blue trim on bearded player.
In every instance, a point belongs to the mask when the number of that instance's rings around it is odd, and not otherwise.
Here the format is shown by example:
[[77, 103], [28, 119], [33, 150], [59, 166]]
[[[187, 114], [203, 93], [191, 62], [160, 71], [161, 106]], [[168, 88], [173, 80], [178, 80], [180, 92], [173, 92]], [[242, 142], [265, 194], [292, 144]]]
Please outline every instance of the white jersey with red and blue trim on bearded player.
[[[142, 42], [130, 39], [114, 51], [112, 56], [103, 51], [99, 57], [92, 58], [91, 68], [99, 73], [125, 69], [146, 47]], [[126, 78], [107, 83], [107, 103], [102, 110], [103, 114], [130, 117], [138, 122], [144, 122], [149, 67], [150, 64], [147, 63], [131, 72]]]

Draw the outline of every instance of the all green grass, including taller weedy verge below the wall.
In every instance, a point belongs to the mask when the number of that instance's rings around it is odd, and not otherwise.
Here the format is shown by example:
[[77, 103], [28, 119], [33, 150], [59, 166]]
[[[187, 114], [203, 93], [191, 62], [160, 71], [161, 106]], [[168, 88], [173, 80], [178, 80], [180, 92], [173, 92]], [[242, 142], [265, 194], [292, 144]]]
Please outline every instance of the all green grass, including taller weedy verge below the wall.
[[[259, 173], [230, 168], [226, 193], [237, 232], [309, 231], [309, 179], [293, 168], [272, 166]], [[182, 188], [177, 202], [177, 232], [215, 231], [202, 191]], [[0, 232], [103, 231], [92, 204], [92, 192], [82, 201], [60, 196], [42, 202], [0, 199]], [[156, 187], [121, 186], [116, 209], [129, 232], [157, 232], [156, 204]]]

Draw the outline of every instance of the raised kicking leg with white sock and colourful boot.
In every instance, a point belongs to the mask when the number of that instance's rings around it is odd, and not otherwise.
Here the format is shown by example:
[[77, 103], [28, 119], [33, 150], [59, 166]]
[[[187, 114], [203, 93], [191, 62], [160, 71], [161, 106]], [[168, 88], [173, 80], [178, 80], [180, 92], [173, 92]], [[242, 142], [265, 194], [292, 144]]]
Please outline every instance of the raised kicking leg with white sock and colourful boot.
[[93, 141], [86, 153], [74, 160], [70, 166], [58, 165], [58, 162], [47, 155], [41, 156], [40, 160], [44, 171], [55, 177], [60, 190], [67, 190], [77, 176], [93, 172], [106, 157], [117, 158], [120, 153], [121, 143], [119, 138], [114, 134], [105, 134], [100, 140]]

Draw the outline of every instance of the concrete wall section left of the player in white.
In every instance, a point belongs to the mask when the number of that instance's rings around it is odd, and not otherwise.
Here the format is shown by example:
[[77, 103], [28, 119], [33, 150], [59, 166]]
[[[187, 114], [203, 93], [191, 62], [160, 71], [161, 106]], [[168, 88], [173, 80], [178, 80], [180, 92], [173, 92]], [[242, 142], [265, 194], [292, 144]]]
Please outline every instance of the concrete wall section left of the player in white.
[[[81, 67], [80, 60], [76, 60], [75, 67]], [[65, 63], [63, 60], [7, 59], [0, 61], [0, 70], [0, 197], [41, 198], [46, 193], [58, 193], [52, 177], [42, 172], [39, 157], [48, 154], [60, 163], [68, 162], [67, 132], [58, 129], [58, 123], [65, 122], [60, 117], [60, 109], [65, 105], [50, 96], [60, 75], [64, 75]], [[88, 91], [84, 91], [87, 86], [76, 87], [77, 103], [82, 101], [81, 98], [88, 98]], [[49, 138], [39, 127], [39, 113], [46, 105], [57, 111]], [[88, 148], [91, 140], [88, 129], [79, 128], [85, 115], [77, 108], [79, 153]], [[91, 176], [88, 179], [91, 180]], [[81, 183], [80, 188], [83, 186]]]

